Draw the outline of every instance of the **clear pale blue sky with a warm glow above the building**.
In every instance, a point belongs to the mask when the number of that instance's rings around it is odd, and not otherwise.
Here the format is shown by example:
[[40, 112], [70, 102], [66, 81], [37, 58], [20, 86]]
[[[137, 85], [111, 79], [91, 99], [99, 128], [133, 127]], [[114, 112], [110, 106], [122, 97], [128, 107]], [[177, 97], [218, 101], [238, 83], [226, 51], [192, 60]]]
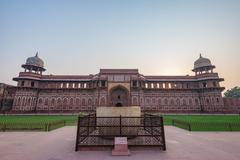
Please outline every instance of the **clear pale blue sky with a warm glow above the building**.
[[193, 74], [202, 53], [240, 86], [240, 0], [0, 0], [0, 82], [36, 52], [46, 74]]

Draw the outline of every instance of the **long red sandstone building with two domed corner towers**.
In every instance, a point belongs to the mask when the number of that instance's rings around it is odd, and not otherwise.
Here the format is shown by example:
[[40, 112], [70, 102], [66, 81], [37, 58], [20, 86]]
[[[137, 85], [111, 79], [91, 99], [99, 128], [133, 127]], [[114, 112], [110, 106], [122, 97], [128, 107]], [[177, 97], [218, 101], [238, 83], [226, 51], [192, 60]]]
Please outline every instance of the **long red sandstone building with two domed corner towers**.
[[36, 56], [22, 65], [13, 111], [79, 112], [99, 106], [141, 106], [142, 111], [224, 112], [218, 74], [211, 61], [194, 62], [194, 76], [149, 76], [138, 69], [100, 69], [90, 75], [44, 75]]

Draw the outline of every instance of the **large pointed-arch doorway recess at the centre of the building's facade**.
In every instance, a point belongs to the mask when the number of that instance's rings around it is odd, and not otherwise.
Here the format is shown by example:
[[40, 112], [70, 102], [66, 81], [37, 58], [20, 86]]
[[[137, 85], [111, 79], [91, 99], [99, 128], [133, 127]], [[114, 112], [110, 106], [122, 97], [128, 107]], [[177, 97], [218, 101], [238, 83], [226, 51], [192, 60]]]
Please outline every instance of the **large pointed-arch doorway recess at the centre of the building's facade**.
[[111, 106], [121, 107], [128, 106], [128, 90], [122, 86], [117, 86], [110, 91]]

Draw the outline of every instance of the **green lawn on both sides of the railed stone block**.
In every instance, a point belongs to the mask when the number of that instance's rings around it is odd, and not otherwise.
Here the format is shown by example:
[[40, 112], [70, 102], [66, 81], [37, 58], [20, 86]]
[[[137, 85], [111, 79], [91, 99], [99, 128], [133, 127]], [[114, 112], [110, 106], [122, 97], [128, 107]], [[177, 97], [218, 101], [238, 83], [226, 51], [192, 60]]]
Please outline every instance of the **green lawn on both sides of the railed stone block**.
[[[191, 131], [240, 131], [238, 115], [164, 115], [164, 124]], [[45, 130], [49, 131], [64, 125], [76, 125], [76, 115], [1, 115], [0, 130]], [[5, 124], [5, 126], [4, 126]], [[7, 125], [7, 127], [6, 127]]]

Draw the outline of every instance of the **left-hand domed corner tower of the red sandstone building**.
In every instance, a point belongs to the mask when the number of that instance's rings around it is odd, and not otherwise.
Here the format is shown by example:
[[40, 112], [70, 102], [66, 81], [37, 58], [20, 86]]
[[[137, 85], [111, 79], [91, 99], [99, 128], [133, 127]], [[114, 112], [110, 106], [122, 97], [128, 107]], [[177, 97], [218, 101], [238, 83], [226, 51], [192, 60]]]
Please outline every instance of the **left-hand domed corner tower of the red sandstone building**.
[[41, 88], [40, 80], [46, 69], [43, 60], [38, 57], [38, 52], [35, 56], [27, 58], [22, 68], [24, 71], [13, 78], [17, 81], [13, 111], [32, 112], [36, 110], [39, 88]]

